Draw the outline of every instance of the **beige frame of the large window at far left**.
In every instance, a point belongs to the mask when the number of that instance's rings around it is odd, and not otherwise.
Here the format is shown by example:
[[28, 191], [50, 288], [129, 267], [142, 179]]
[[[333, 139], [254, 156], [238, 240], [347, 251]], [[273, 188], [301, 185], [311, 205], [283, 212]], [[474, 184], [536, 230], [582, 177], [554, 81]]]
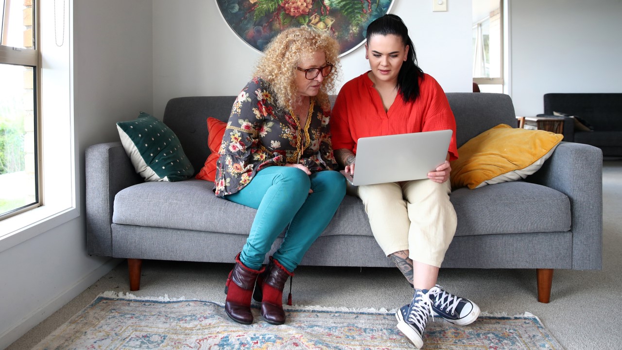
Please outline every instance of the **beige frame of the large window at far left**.
[[[11, 2], [6, 0], [2, 1], [2, 34], [4, 37], [0, 39], [6, 39], [7, 32], [6, 29], [6, 21], [9, 16], [8, 11], [6, 11], [7, 4], [11, 4]], [[14, 0], [13, 0], [14, 1]], [[40, 38], [40, 26], [39, 26], [39, 0], [32, 1], [32, 49], [25, 47], [12, 47], [9, 45], [0, 44], [0, 64], [10, 64], [10, 65], [20, 65], [23, 67], [31, 67], [32, 68], [32, 77], [34, 82], [32, 84], [33, 87], [33, 113], [34, 113], [34, 172], [35, 172], [35, 202], [30, 204], [26, 204], [26, 206], [19, 207], [17, 209], [11, 210], [4, 214], [0, 213], [0, 222], [10, 219], [19, 214], [23, 214], [29, 210], [36, 209], [40, 206], [44, 205], [44, 196], [43, 196], [43, 174], [41, 164], [41, 54], [39, 50], [39, 38]], [[0, 234], [0, 239], [2, 235]]]

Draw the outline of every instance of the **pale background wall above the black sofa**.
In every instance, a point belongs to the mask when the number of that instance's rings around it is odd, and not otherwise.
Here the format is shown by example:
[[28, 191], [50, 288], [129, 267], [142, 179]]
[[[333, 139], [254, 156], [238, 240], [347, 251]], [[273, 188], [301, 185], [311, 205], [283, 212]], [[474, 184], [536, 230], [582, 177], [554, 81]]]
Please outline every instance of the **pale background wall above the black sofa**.
[[622, 92], [622, 1], [510, 2], [517, 115], [543, 113], [553, 92]]

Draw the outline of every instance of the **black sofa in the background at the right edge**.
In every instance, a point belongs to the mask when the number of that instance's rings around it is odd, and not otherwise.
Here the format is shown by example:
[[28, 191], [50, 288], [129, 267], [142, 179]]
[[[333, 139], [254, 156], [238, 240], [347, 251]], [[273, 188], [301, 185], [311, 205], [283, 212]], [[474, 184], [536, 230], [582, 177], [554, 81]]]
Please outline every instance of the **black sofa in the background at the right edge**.
[[547, 93], [542, 115], [554, 111], [579, 116], [594, 129], [575, 130], [572, 118], [565, 117], [564, 141], [591, 144], [603, 156], [622, 156], [622, 93]]

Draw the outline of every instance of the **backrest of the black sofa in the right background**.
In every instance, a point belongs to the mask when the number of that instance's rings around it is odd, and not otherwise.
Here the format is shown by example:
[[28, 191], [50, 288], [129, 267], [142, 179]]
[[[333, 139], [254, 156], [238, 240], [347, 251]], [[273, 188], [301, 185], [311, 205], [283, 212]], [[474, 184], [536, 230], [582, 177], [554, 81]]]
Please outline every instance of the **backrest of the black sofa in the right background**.
[[622, 93], [547, 93], [544, 114], [554, 111], [579, 116], [596, 131], [622, 130]]

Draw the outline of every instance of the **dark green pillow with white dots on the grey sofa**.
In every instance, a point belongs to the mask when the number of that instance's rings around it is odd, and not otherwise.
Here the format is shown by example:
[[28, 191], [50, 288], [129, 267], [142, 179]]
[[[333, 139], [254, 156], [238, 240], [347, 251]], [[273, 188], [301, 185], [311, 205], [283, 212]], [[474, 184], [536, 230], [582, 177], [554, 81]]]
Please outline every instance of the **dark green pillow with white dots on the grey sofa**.
[[141, 112], [117, 123], [125, 152], [145, 181], [182, 181], [194, 174], [175, 133], [158, 118]]

